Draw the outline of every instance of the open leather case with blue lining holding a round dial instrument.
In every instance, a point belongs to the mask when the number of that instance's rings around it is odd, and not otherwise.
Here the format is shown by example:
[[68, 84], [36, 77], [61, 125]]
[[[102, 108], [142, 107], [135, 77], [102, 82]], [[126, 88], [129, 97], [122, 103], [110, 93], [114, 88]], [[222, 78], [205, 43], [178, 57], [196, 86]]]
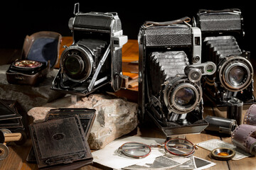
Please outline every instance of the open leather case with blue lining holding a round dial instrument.
[[41, 31], [27, 35], [21, 60], [11, 63], [6, 71], [9, 84], [36, 85], [58, 62], [61, 35], [51, 31]]

